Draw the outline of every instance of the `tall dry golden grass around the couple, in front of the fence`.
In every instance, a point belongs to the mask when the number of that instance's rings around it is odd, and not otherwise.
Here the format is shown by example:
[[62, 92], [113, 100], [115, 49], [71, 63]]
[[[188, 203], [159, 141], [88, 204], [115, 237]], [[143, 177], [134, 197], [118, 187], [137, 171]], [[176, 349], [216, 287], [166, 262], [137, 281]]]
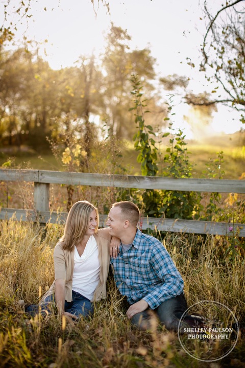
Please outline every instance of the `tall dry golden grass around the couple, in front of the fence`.
[[[53, 249], [62, 232], [63, 225], [41, 227], [14, 219], [0, 222], [1, 367], [244, 366], [243, 334], [227, 357], [203, 362], [185, 353], [178, 335], [164, 327], [155, 326], [152, 332], [132, 327], [112, 279], [108, 280], [107, 300], [96, 304], [90, 319], [78, 324], [55, 314], [29, 319], [17, 301], [38, 302], [53, 282]], [[201, 300], [223, 303], [244, 326], [244, 259], [238, 253], [231, 257], [226, 239], [169, 233], [163, 243], [184, 278], [188, 304]], [[198, 341], [193, 349], [203, 354], [204, 345]]]

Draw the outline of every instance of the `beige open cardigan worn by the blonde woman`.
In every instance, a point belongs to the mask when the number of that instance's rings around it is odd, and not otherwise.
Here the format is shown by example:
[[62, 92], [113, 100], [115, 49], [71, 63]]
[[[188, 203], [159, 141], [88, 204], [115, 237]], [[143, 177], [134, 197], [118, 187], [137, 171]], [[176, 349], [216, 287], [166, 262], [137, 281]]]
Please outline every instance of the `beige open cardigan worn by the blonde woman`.
[[[94, 234], [97, 246], [99, 248], [100, 281], [97, 285], [91, 302], [96, 302], [106, 298], [106, 280], [109, 272], [110, 264], [110, 240], [109, 228], [102, 228]], [[71, 251], [63, 250], [62, 244], [59, 242], [54, 249], [55, 263], [55, 280], [65, 280], [65, 300], [72, 301], [72, 277], [74, 270], [74, 249]], [[50, 289], [43, 295], [40, 303], [43, 302], [46, 296], [55, 292], [55, 281]]]

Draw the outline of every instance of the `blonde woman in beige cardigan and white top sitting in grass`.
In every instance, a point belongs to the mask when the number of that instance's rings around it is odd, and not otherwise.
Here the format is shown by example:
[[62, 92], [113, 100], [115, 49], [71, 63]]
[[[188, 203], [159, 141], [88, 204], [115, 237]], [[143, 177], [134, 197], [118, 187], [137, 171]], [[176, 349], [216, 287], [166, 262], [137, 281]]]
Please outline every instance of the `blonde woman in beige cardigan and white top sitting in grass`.
[[[74, 319], [93, 313], [93, 302], [106, 297], [109, 271], [109, 228], [98, 229], [99, 213], [88, 201], [72, 205], [64, 235], [54, 249], [55, 281], [40, 304], [27, 305], [34, 316], [51, 311], [54, 300], [60, 315]], [[119, 239], [115, 240], [119, 246]]]

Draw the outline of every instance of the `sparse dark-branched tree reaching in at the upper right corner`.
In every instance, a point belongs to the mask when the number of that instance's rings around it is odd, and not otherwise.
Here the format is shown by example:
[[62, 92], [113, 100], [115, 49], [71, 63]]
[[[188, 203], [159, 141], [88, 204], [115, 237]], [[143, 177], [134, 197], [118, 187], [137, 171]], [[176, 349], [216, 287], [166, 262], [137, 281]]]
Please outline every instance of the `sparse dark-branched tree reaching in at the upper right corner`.
[[208, 19], [202, 44], [200, 71], [208, 81], [216, 82], [211, 95], [206, 98], [186, 95], [187, 103], [213, 105], [223, 103], [242, 111], [245, 109], [245, 3], [227, 0], [214, 15], [204, 1], [204, 13]]

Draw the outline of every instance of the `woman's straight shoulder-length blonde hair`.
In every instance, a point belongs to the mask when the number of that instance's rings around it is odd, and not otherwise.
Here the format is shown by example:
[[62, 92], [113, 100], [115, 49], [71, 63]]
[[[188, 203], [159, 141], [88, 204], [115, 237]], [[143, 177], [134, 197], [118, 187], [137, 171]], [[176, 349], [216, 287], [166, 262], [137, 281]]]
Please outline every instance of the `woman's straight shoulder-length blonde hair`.
[[74, 244], [79, 244], [84, 239], [93, 210], [97, 216], [96, 233], [99, 227], [97, 208], [88, 201], [78, 201], [72, 205], [65, 223], [64, 235], [60, 239], [64, 250], [71, 250]]

